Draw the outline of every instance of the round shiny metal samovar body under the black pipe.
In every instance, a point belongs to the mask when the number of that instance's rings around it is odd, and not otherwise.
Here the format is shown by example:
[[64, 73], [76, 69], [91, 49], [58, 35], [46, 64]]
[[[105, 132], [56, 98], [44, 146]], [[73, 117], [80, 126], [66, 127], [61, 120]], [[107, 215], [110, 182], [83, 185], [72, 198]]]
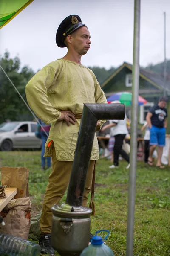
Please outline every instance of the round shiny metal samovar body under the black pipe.
[[62, 256], [79, 256], [88, 246], [92, 210], [68, 204], [52, 208], [51, 245]]

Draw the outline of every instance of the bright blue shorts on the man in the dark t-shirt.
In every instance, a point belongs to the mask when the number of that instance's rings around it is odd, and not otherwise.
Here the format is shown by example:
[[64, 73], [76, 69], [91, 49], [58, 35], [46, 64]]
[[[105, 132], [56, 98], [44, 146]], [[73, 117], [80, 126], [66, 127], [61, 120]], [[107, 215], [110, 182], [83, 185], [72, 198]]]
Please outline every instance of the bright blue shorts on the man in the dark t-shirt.
[[150, 145], [158, 145], [159, 147], [165, 146], [166, 128], [152, 126], [150, 129]]

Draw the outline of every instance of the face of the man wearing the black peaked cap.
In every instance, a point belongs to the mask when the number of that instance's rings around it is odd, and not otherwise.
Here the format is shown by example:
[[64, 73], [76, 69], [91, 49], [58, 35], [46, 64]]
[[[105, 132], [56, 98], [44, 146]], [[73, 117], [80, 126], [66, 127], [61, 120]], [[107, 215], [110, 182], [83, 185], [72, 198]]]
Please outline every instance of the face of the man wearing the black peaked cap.
[[72, 36], [72, 47], [79, 53], [79, 55], [85, 55], [90, 49], [90, 32], [86, 26], [82, 26], [77, 29]]

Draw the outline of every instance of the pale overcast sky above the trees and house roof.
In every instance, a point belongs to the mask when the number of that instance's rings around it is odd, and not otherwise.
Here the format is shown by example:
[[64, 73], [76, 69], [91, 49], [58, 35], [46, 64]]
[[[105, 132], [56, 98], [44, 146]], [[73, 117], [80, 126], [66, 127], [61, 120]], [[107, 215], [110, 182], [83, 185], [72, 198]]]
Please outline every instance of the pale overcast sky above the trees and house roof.
[[[170, 59], [170, 0], [141, 0], [140, 65], [164, 60], [166, 12], [167, 58]], [[0, 30], [0, 55], [5, 49], [34, 71], [66, 54], [55, 35], [68, 15], [77, 14], [91, 33], [85, 66], [118, 67], [133, 60], [134, 0], [34, 0]]]

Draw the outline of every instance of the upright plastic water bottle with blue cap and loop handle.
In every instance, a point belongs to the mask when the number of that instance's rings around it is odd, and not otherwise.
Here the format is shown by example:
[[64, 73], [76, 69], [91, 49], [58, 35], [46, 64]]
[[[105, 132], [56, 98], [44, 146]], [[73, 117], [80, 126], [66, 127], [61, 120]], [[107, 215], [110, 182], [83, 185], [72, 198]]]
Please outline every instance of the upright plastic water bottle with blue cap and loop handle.
[[[109, 232], [108, 230], [99, 230], [96, 233], [99, 233], [102, 231]], [[108, 236], [106, 236], [106, 238], [107, 237]], [[95, 234], [95, 236], [93, 236], [91, 239], [91, 245], [86, 247], [82, 251], [80, 256], [114, 256], [114, 254], [113, 254], [112, 250], [107, 245], [103, 244], [102, 237], [96, 236], [96, 234]]]

